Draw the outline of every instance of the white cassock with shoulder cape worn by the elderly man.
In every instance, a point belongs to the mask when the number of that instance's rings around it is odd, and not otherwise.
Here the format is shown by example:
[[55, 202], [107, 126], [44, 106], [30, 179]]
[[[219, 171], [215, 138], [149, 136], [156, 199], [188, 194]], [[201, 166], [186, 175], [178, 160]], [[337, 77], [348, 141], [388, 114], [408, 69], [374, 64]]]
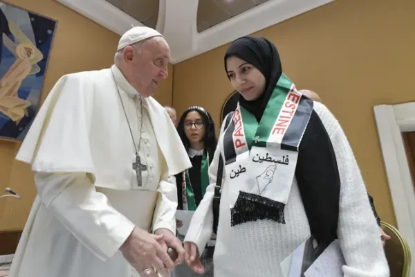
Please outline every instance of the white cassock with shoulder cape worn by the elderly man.
[[[38, 195], [10, 277], [138, 276], [118, 251], [133, 227], [176, 231], [170, 176], [191, 167], [187, 153], [165, 109], [151, 97], [141, 107], [111, 69], [60, 78], [21, 145], [17, 159], [31, 164]], [[141, 133], [141, 187], [116, 85], [136, 144]]]

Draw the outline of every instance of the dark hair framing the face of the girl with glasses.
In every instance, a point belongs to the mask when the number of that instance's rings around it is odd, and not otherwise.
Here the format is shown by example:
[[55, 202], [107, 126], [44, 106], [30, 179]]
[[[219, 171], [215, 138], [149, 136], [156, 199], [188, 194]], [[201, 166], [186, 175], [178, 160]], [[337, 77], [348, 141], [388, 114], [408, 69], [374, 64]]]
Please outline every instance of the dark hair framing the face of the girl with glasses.
[[205, 136], [203, 137], [202, 141], [205, 143], [205, 151], [208, 151], [209, 163], [211, 163], [213, 159], [214, 151], [216, 150], [217, 141], [216, 141], [216, 134], [214, 132], [214, 123], [208, 111], [203, 109], [203, 107], [199, 107], [199, 106], [192, 106], [190, 108], [187, 108], [183, 112], [180, 120], [178, 120], [178, 125], [177, 125], [178, 135], [180, 136], [181, 141], [183, 142], [183, 145], [185, 145], [186, 151], [188, 151], [190, 148], [190, 141], [189, 139], [187, 139], [187, 136], [185, 134], [184, 121], [185, 121], [187, 114], [189, 114], [190, 111], [197, 111], [203, 118], [203, 123], [205, 123]]

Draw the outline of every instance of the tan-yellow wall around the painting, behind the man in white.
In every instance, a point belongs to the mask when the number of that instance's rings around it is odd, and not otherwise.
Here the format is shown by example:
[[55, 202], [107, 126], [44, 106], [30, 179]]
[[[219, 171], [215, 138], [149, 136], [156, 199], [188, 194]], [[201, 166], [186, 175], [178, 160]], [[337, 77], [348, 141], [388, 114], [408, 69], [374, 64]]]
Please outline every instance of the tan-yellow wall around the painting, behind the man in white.
[[[57, 19], [42, 101], [53, 84], [64, 74], [102, 69], [111, 66], [119, 35], [95, 24], [55, 0], [8, 0], [6, 3]], [[160, 85], [156, 99], [163, 105], [172, 105], [172, 68], [169, 79]], [[33, 173], [29, 166], [15, 161], [20, 143], [0, 141], [0, 195], [10, 186], [22, 195], [0, 199], [0, 231], [23, 229], [30, 206], [36, 195]]]

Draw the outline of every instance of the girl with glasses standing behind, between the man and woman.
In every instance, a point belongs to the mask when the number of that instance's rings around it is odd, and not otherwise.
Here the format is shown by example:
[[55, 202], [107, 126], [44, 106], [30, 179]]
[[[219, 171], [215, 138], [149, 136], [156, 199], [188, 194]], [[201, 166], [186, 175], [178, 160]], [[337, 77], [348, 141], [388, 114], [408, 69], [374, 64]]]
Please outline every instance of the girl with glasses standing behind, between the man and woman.
[[[214, 123], [203, 107], [192, 106], [178, 121], [177, 132], [189, 154], [192, 168], [176, 175], [178, 209], [195, 211], [209, 185], [208, 168], [216, 150]], [[181, 222], [178, 222], [180, 226]], [[201, 260], [204, 274], [196, 274], [186, 264], [178, 265], [174, 277], [213, 276], [213, 242], [208, 242]]]

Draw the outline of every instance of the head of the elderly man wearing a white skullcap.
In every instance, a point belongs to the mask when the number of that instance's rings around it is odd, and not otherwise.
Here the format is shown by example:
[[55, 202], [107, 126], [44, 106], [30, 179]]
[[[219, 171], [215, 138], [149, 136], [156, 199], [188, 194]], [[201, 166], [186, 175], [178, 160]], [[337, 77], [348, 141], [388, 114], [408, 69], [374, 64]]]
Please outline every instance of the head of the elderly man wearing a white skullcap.
[[134, 27], [121, 37], [114, 60], [138, 93], [149, 97], [156, 93], [160, 82], [167, 78], [170, 49], [156, 30]]

